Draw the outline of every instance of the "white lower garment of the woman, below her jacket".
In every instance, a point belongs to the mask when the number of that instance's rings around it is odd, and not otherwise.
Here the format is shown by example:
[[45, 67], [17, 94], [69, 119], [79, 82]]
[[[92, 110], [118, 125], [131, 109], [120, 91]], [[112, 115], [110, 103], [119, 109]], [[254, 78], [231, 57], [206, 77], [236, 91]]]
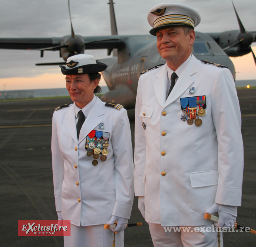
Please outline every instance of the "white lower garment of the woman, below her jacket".
[[[104, 225], [76, 226], [71, 224], [70, 237], [64, 236], [65, 247], [110, 247], [114, 233]], [[116, 246], [124, 247], [124, 231], [116, 233]]]

